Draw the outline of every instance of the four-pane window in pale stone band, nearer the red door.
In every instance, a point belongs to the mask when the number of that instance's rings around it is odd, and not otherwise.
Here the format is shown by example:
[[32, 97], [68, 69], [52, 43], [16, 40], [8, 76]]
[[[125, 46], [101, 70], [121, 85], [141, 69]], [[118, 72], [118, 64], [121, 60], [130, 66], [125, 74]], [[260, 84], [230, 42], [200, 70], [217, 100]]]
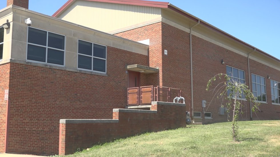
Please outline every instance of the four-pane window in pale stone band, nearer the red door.
[[106, 73], [106, 46], [79, 40], [78, 68]]

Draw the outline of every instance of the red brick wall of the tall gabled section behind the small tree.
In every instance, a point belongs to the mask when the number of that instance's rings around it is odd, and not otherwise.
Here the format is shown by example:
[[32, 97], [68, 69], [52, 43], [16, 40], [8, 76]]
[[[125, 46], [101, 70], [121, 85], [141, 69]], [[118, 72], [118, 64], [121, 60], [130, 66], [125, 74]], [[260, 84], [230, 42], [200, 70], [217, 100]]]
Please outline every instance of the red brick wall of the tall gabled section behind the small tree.
[[[191, 98], [189, 32], [182, 31], [166, 23], [156, 23], [116, 35], [135, 41], [149, 38], [151, 43], [149, 52], [153, 48], [153, 53], [149, 54], [149, 58], [154, 59], [154, 54], [161, 56], [161, 58], [149, 61], [150, 64], [151, 62], [153, 64], [156, 62], [161, 65], [159, 78], [154, 79], [159, 79], [161, 86], [182, 89], [183, 93]], [[159, 44], [153, 45], [154, 41], [156, 40], [156, 43], [158, 43], [159, 39], [161, 39]], [[155, 52], [156, 50], [158, 52]], [[164, 50], [167, 50], [167, 55], [164, 55]], [[205, 88], [210, 78], [219, 73], [226, 73], [227, 65], [245, 71], [245, 81], [249, 86], [247, 57], [194, 35], [192, 36], [192, 50], [194, 111], [202, 113], [203, 123], [227, 121], [226, 114], [218, 114], [221, 105], [226, 105], [226, 102], [216, 99], [213, 93], [207, 92]], [[225, 64], [221, 64], [222, 59]], [[271, 79], [277, 80], [277, 78], [280, 78], [279, 71], [253, 60], [250, 60], [250, 67], [252, 73], [265, 77], [267, 84], [268, 103], [261, 105], [260, 109], [263, 112], [253, 113], [253, 119], [279, 119], [280, 114], [276, 113], [276, 111], [280, 109], [278, 105], [271, 105], [270, 80], [267, 79], [267, 75], [270, 75]], [[218, 80], [213, 83], [213, 86], [217, 85], [217, 83]], [[204, 119], [202, 100], [207, 101], [205, 111], [211, 112], [213, 119]], [[240, 116], [240, 120], [250, 120], [249, 102], [242, 101], [242, 104], [244, 114]]]

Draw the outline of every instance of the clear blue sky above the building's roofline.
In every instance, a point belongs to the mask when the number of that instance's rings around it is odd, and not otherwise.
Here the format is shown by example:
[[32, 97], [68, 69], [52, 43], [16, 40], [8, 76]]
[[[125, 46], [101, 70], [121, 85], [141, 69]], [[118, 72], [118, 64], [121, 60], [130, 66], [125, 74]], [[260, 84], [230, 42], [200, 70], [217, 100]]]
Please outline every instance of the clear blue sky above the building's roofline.
[[[158, 1], [158, 0], [155, 0]], [[280, 0], [163, 0], [280, 59]], [[67, 0], [29, 0], [29, 9], [52, 15]], [[0, 8], [6, 7], [0, 1]]]

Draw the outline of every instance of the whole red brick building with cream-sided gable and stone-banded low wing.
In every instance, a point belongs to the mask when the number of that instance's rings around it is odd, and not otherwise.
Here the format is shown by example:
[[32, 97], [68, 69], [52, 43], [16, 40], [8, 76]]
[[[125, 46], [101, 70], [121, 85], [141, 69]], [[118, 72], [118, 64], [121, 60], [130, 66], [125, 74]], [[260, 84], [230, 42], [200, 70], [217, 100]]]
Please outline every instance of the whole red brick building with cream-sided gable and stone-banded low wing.
[[280, 60], [170, 3], [69, 0], [50, 17], [14, 0], [0, 17], [9, 24], [0, 28], [0, 152], [57, 154], [60, 119], [112, 119], [128, 87], [181, 89], [196, 122], [227, 121], [205, 91], [218, 73], [261, 103], [251, 113], [242, 101], [242, 120], [279, 119]]

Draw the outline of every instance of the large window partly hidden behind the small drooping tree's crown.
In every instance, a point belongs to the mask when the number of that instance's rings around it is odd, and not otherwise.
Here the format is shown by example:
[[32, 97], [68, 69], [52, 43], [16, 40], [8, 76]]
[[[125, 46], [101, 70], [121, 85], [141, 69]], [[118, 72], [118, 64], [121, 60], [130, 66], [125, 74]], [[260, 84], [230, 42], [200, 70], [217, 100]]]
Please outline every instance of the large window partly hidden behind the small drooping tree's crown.
[[[245, 83], [245, 72], [243, 70], [227, 66], [227, 75], [231, 78], [232, 81]], [[229, 93], [230, 90], [227, 91], [227, 95], [229, 95]], [[245, 99], [245, 95], [243, 93], [241, 93], [241, 98]]]

